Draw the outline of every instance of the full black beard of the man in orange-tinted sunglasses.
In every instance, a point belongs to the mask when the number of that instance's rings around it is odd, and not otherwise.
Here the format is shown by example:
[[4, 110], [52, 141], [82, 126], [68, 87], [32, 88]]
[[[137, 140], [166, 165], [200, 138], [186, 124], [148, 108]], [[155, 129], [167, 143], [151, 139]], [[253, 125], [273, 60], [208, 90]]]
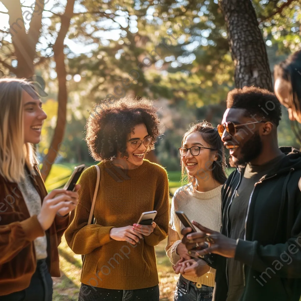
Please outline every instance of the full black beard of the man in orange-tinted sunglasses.
[[238, 160], [234, 162], [232, 157], [229, 159], [231, 167], [237, 168], [238, 166], [245, 166], [246, 163], [251, 162], [260, 155], [262, 151], [262, 142], [259, 133], [254, 133], [253, 136], [240, 148], [240, 157], [237, 158]]

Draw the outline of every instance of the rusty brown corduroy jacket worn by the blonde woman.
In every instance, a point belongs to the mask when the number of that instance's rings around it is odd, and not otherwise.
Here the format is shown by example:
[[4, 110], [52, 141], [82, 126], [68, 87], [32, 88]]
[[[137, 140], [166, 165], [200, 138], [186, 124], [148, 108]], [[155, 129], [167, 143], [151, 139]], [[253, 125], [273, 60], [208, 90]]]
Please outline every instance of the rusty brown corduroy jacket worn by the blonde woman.
[[[47, 190], [37, 166], [30, 169], [32, 182], [41, 196]], [[53, 277], [60, 277], [57, 247], [61, 243], [69, 222], [66, 217], [56, 216], [47, 231], [43, 231], [37, 216], [29, 215], [22, 196], [22, 184], [7, 182], [0, 175], [0, 296], [23, 290], [30, 284], [36, 270], [36, 253], [33, 241], [47, 237], [47, 265]], [[23, 184], [24, 185], [24, 184]]]

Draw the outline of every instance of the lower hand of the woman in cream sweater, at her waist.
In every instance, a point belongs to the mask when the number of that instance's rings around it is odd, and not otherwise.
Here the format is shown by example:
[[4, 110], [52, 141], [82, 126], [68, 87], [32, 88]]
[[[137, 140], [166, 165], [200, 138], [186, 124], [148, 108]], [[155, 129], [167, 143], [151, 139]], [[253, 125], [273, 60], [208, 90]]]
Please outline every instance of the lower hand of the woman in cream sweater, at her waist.
[[175, 265], [172, 266], [176, 274], [186, 276], [200, 277], [207, 273], [210, 267], [202, 259], [189, 259], [181, 258]]

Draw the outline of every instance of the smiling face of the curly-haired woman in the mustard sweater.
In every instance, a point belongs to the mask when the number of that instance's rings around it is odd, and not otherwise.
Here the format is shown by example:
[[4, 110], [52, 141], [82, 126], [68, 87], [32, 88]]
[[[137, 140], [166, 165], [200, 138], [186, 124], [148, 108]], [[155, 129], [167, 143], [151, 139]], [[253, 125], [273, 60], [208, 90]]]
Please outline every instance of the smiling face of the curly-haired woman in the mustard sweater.
[[[147, 128], [144, 123], [136, 125], [134, 130], [127, 136], [126, 151], [129, 154], [129, 158], [127, 159], [129, 169], [137, 168], [138, 166], [142, 165], [145, 152], [148, 148], [143, 142], [141, 143], [141, 140], [144, 139], [144, 143], [146, 145], [151, 141], [151, 137], [148, 135]], [[137, 147], [138, 145], [139, 147]]]

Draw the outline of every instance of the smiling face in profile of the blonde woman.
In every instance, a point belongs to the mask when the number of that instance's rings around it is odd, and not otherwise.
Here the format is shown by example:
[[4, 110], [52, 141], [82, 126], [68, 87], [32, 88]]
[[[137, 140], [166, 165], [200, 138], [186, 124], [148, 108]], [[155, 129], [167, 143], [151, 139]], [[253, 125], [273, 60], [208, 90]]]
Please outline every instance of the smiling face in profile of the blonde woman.
[[22, 94], [24, 143], [37, 144], [40, 142], [41, 129], [47, 115], [42, 110], [42, 101], [33, 99], [27, 92]]

